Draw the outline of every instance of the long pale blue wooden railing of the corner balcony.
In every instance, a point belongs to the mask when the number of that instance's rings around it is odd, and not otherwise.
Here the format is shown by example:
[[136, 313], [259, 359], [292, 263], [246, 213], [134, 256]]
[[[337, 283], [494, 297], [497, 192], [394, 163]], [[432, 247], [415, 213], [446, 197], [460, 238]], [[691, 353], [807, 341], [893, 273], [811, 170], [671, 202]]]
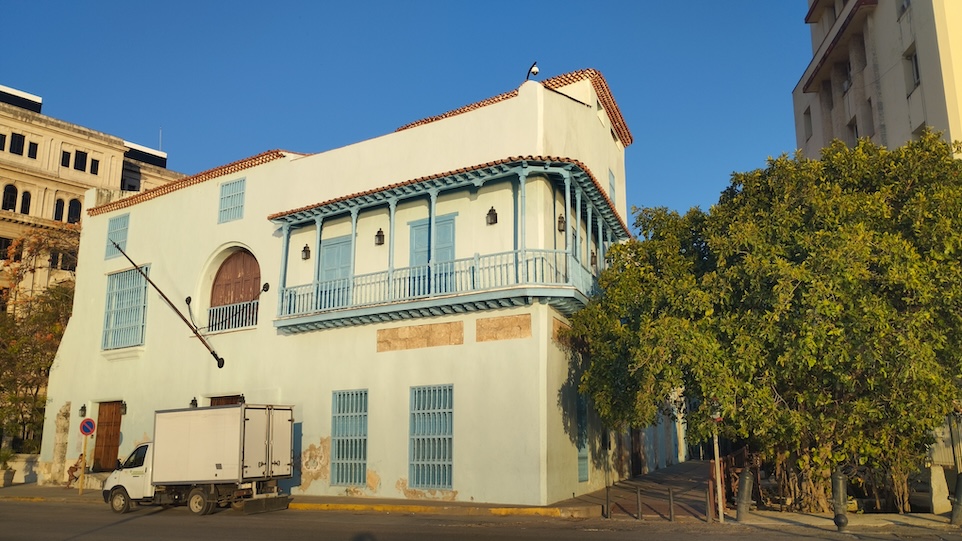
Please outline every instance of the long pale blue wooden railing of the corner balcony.
[[522, 285], [574, 286], [588, 295], [594, 284], [592, 272], [564, 251], [519, 250], [284, 288], [279, 312], [298, 316]]

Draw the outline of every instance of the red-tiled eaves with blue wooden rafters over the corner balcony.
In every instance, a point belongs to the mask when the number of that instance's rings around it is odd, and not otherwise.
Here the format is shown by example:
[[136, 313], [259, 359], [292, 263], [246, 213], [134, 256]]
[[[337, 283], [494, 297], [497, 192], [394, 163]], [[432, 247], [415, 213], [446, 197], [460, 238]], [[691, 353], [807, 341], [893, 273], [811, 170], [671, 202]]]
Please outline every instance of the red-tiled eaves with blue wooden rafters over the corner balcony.
[[631, 233], [622, 217], [615, 211], [608, 195], [588, 168], [578, 160], [570, 158], [526, 156], [511, 157], [495, 162], [487, 162], [454, 171], [438, 173], [399, 182], [374, 190], [354, 193], [305, 207], [278, 212], [268, 219], [278, 225], [292, 228], [313, 224], [317, 218], [328, 218], [351, 212], [388, 205], [391, 201], [410, 199], [428, 195], [433, 191], [442, 192], [468, 187], [480, 187], [486, 182], [522, 174], [543, 175], [563, 181], [570, 178], [572, 190], [579, 189], [583, 197], [593, 205], [602, 219], [614, 231], [618, 241], [631, 238]]

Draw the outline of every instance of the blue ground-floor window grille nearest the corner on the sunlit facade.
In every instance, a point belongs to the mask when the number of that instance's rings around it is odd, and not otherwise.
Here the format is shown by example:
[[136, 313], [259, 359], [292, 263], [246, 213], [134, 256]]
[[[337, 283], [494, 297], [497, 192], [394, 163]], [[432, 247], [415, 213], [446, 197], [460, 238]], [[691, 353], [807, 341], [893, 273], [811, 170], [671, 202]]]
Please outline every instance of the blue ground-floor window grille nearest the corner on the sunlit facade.
[[411, 388], [411, 488], [452, 488], [454, 386]]

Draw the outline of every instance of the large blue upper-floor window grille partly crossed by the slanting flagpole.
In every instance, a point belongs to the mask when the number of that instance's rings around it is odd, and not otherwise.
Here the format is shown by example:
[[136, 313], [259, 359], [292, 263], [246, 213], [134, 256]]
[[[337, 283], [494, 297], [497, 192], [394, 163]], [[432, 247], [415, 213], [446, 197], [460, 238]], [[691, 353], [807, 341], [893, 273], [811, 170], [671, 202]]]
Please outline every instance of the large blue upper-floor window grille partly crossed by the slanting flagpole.
[[146, 311], [147, 280], [137, 269], [107, 276], [103, 349], [142, 345]]

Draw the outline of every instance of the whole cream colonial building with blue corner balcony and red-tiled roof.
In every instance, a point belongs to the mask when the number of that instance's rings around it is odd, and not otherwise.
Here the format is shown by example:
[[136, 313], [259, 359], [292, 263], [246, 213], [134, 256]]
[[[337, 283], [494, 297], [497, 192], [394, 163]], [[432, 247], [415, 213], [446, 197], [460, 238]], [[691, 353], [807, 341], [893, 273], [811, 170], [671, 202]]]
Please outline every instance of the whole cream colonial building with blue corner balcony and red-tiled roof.
[[610, 437], [556, 339], [629, 237], [630, 143], [583, 70], [328, 152], [88, 192], [89, 317], [51, 370], [42, 481], [84, 416], [110, 468], [155, 410], [239, 400], [294, 406], [295, 495], [547, 504], [684, 460], [674, 424]]

